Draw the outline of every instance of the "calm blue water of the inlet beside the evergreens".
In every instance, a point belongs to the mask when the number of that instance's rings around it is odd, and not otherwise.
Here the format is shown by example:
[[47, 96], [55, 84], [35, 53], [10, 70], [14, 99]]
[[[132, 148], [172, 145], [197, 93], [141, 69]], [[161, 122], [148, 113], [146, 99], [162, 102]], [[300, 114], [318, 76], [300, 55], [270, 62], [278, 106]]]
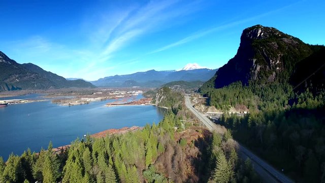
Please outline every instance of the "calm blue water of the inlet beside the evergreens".
[[[6, 99], [40, 97], [27, 95]], [[87, 133], [157, 124], [164, 115], [164, 110], [155, 106], [104, 107], [112, 101], [77, 106], [59, 106], [44, 101], [0, 107], [0, 156], [7, 160], [11, 152], [21, 155], [28, 147], [39, 151], [41, 147], [47, 148], [49, 141], [56, 147], [70, 144]]]

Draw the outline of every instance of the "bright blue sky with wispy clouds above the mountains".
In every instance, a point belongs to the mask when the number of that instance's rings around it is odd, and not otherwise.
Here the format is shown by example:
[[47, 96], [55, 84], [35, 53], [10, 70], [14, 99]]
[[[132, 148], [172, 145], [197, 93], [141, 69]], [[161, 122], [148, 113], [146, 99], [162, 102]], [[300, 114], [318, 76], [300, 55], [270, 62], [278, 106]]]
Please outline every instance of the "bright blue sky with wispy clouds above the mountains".
[[228, 62], [262, 24], [325, 43], [324, 1], [0, 0], [0, 50], [63, 77], [97, 80]]

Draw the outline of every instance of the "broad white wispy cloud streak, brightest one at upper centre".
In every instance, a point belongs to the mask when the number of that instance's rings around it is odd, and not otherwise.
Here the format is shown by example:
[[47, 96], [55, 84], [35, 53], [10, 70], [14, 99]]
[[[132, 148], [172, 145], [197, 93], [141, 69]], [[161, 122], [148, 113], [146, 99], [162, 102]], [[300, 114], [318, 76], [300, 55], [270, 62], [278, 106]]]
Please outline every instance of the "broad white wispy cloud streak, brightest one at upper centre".
[[[148, 4], [131, 9], [128, 16], [123, 17], [110, 31], [110, 39], [104, 45], [101, 52], [101, 60], [104, 62], [112, 58], [114, 52], [128, 45], [139, 36], [148, 34], [157, 29], [163, 29], [165, 24], [181, 15], [193, 11], [194, 3], [189, 3], [182, 9], [175, 9], [180, 1], [151, 1]], [[114, 35], [114, 37], [113, 37]]]

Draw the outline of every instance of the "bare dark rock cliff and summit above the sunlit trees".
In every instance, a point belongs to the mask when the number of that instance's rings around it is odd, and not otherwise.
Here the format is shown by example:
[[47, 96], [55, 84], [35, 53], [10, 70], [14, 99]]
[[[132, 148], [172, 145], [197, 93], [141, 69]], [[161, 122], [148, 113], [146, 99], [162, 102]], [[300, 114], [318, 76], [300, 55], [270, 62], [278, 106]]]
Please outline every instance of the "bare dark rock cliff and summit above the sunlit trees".
[[289, 80], [300, 60], [313, 53], [310, 45], [273, 27], [255, 25], [244, 29], [234, 58], [221, 67], [214, 79], [216, 88], [241, 81], [258, 84]]

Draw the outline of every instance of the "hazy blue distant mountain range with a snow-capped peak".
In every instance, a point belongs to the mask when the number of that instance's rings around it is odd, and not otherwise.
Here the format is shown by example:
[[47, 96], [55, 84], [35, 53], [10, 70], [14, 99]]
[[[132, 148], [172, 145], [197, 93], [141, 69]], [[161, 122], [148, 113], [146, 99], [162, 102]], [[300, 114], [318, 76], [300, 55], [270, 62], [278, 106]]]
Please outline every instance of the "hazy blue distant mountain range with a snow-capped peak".
[[137, 72], [127, 75], [115, 75], [90, 81], [96, 86], [106, 87], [159, 87], [171, 81], [207, 81], [217, 69], [197, 69], [198, 65], [185, 67], [181, 71], [155, 71]]

